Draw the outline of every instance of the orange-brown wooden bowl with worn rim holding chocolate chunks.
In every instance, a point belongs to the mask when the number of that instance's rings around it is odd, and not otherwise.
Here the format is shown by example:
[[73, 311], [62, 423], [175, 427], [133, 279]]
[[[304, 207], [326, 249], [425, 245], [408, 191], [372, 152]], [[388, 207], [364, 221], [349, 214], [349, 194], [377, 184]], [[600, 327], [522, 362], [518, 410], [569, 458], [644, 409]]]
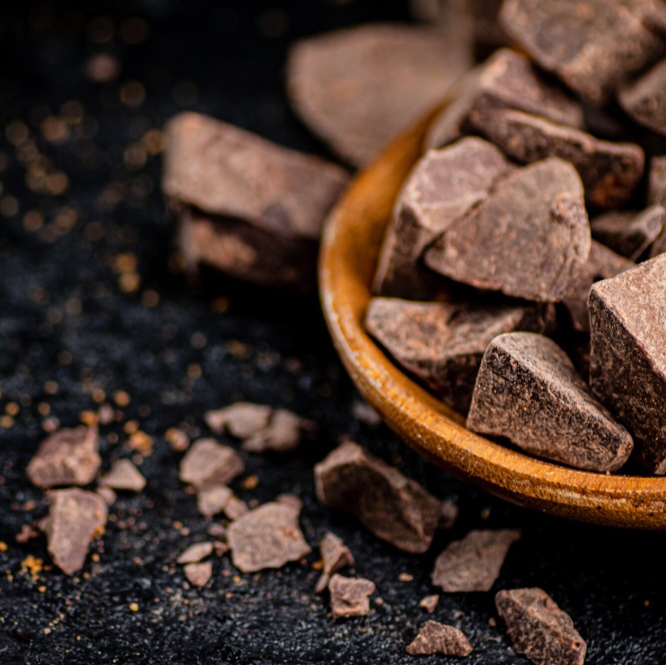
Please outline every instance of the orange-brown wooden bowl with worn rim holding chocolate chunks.
[[577, 471], [480, 437], [464, 418], [403, 373], [368, 337], [362, 319], [384, 228], [421, 152], [432, 114], [360, 173], [324, 230], [319, 280], [336, 349], [382, 419], [416, 451], [456, 477], [518, 505], [617, 527], [666, 528], [666, 477]]

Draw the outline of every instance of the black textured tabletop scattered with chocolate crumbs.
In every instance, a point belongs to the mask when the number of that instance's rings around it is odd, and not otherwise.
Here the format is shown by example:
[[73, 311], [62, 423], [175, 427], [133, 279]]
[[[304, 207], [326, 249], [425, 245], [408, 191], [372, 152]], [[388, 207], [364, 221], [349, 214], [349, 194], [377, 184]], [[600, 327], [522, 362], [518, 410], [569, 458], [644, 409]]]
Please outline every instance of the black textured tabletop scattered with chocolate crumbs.
[[[587, 641], [587, 663], [662, 662], [663, 535], [565, 523], [452, 481], [384, 427], [374, 431], [354, 421], [355, 393], [328, 341], [316, 302], [262, 297], [225, 282], [192, 292], [182, 278], [168, 272], [159, 160], [149, 158], [145, 169], [129, 171], [123, 166], [123, 149], [150, 126], [161, 126], [172, 113], [192, 108], [284, 144], [317, 150], [284, 101], [286, 44], [336, 25], [406, 16], [402, 3], [357, 1], [335, 7], [321, 0], [293, 0], [282, 5], [288, 7], [286, 29], [270, 39], [258, 31], [258, 25], [266, 23], [262, 12], [275, 7], [270, 3], [225, 0], [176, 7], [145, 0], [129, 7], [117, 2], [115, 19], [139, 13], [151, 23], [148, 41], [136, 46], [119, 39], [95, 46], [84, 31], [68, 36], [57, 23], [35, 31], [30, 23], [14, 23], [13, 17], [29, 13], [27, 3], [15, 5], [13, 14], [3, 9], [3, 127], [9, 120], [34, 116], [42, 105], [58, 112], [61, 103], [79, 99], [99, 122], [93, 141], [100, 158], [99, 166], [93, 158], [84, 168], [73, 152], [75, 142], [56, 146], [39, 139], [42, 152], [70, 176], [69, 191], [54, 199], [29, 191], [15, 148], [4, 138], [0, 148], [9, 158], [0, 173], [5, 195], [19, 200], [18, 214], [0, 220], [1, 408], [11, 401], [23, 404], [15, 425], [0, 433], [0, 540], [9, 545], [0, 553], [0, 662], [390, 665], [412, 662], [404, 649], [428, 618], [453, 624], [470, 638], [474, 652], [462, 662], [526, 662], [510, 650], [501, 626], [488, 625], [495, 615], [492, 592], [442, 594], [432, 617], [418, 606], [423, 596], [434, 592], [430, 571], [446, 543], [470, 529], [495, 527], [520, 527], [523, 539], [512, 547], [494, 591], [518, 586], [547, 591], [571, 614]], [[88, 7], [88, 18], [108, 11], [102, 3]], [[58, 15], [64, 13], [61, 9]], [[122, 61], [121, 83], [145, 83], [147, 98], [141, 107], [118, 103], [117, 85], [99, 87], [81, 75], [84, 57], [105, 49]], [[198, 98], [180, 106], [172, 91], [183, 80], [196, 83]], [[186, 87], [179, 90], [182, 95]], [[39, 120], [31, 120], [31, 132], [36, 129]], [[143, 174], [152, 178], [154, 189], [147, 198], [137, 199], [130, 184]], [[125, 182], [127, 195], [116, 206], [101, 206], [99, 197], [111, 181]], [[11, 212], [6, 202], [1, 206], [2, 200], [0, 207]], [[45, 242], [50, 231], [25, 230], [22, 218], [27, 210], [43, 208], [49, 228], [64, 204], [77, 208], [81, 219], [57, 240]], [[85, 229], [93, 221], [101, 222], [104, 236], [91, 243]], [[113, 256], [127, 251], [139, 257], [142, 286], [134, 294], [119, 290], [112, 268]], [[155, 308], [141, 303], [146, 289], [160, 294]], [[226, 314], [210, 307], [212, 297], [220, 293], [230, 297]], [[81, 301], [80, 314], [72, 299]], [[194, 346], [190, 343], [195, 332], [206, 336], [205, 347], [196, 348], [198, 337]], [[231, 353], [238, 347], [230, 344], [232, 340], [248, 345], [248, 357]], [[71, 354], [69, 364], [63, 352]], [[300, 360], [302, 373], [290, 371], [290, 358]], [[188, 377], [190, 363], [200, 365], [199, 379]], [[137, 497], [122, 497], [111, 509], [116, 521], [109, 523], [99, 563], [86, 564], [83, 572], [88, 576], [67, 578], [51, 570], [33, 582], [19, 573], [20, 562], [34, 554], [48, 563], [45, 545], [42, 540], [17, 545], [14, 535], [23, 523], [45, 512], [43, 494], [29, 485], [24, 473], [43, 437], [43, 417], [37, 409], [47, 401], [63, 425], [74, 425], [81, 410], [97, 406], [83, 388], [84, 378], [109, 395], [116, 389], [130, 393], [125, 417], [139, 419], [142, 429], [156, 437], [155, 453], [140, 467], [148, 484]], [[58, 381], [57, 395], [45, 393], [43, 385], [49, 379]], [[318, 437], [296, 455], [277, 460], [244, 455], [246, 473], [256, 473], [259, 485], [247, 491], [234, 481], [232, 487], [245, 500], [297, 493], [305, 503], [301, 523], [310, 545], [316, 546], [328, 529], [334, 531], [356, 558], [344, 574], [376, 583], [368, 616], [334, 623], [326, 598], [314, 594], [318, 571], [299, 564], [258, 576], [241, 575], [236, 582], [237, 571], [224, 556], [214, 559], [210, 588], [183, 587], [184, 574], [174, 560], [186, 545], [202, 539], [209, 522], [178, 481], [180, 455], [170, 451], [164, 433], [182, 421], [205, 433], [204, 411], [239, 397], [285, 406], [318, 421]], [[139, 415], [141, 405], [150, 407], [149, 415], [145, 409]], [[105, 469], [127, 454], [122, 423], [103, 427], [103, 439], [113, 431], [120, 433], [120, 443], [103, 441]], [[398, 463], [439, 497], [458, 497], [458, 524], [452, 533], [440, 533], [428, 554], [402, 554], [351, 517], [316, 503], [312, 466], [345, 433]], [[25, 502], [31, 500], [37, 507], [25, 511]], [[181, 535], [173, 521], [181, 521], [190, 535]], [[317, 557], [315, 550], [308, 561]], [[231, 571], [229, 576], [224, 576], [225, 569]], [[399, 582], [400, 572], [414, 574], [414, 581]], [[45, 590], [40, 592], [42, 585]], [[376, 598], [384, 602], [377, 604]], [[139, 605], [138, 612], [129, 609], [132, 602]], [[45, 634], [50, 622], [51, 632]], [[446, 660], [433, 656], [418, 662]]]

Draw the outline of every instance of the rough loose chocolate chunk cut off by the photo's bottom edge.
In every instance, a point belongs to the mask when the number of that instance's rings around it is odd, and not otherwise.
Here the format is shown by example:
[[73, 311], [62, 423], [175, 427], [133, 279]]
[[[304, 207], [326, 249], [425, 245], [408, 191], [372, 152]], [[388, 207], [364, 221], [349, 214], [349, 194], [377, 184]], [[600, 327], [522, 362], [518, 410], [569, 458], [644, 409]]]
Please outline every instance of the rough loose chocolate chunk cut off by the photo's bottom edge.
[[495, 603], [513, 650], [537, 665], [583, 665], [587, 644], [569, 614], [540, 588], [500, 591]]

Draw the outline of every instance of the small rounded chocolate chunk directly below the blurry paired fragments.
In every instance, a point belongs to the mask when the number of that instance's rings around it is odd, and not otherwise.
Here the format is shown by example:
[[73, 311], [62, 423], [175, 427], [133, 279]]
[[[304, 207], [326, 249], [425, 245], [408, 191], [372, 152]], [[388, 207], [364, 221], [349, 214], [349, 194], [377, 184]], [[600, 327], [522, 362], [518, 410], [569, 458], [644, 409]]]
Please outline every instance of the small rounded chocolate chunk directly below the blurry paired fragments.
[[226, 485], [245, 468], [233, 448], [214, 439], [198, 439], [180, 461], [180, 480], [196, 489], [208, 485]]

